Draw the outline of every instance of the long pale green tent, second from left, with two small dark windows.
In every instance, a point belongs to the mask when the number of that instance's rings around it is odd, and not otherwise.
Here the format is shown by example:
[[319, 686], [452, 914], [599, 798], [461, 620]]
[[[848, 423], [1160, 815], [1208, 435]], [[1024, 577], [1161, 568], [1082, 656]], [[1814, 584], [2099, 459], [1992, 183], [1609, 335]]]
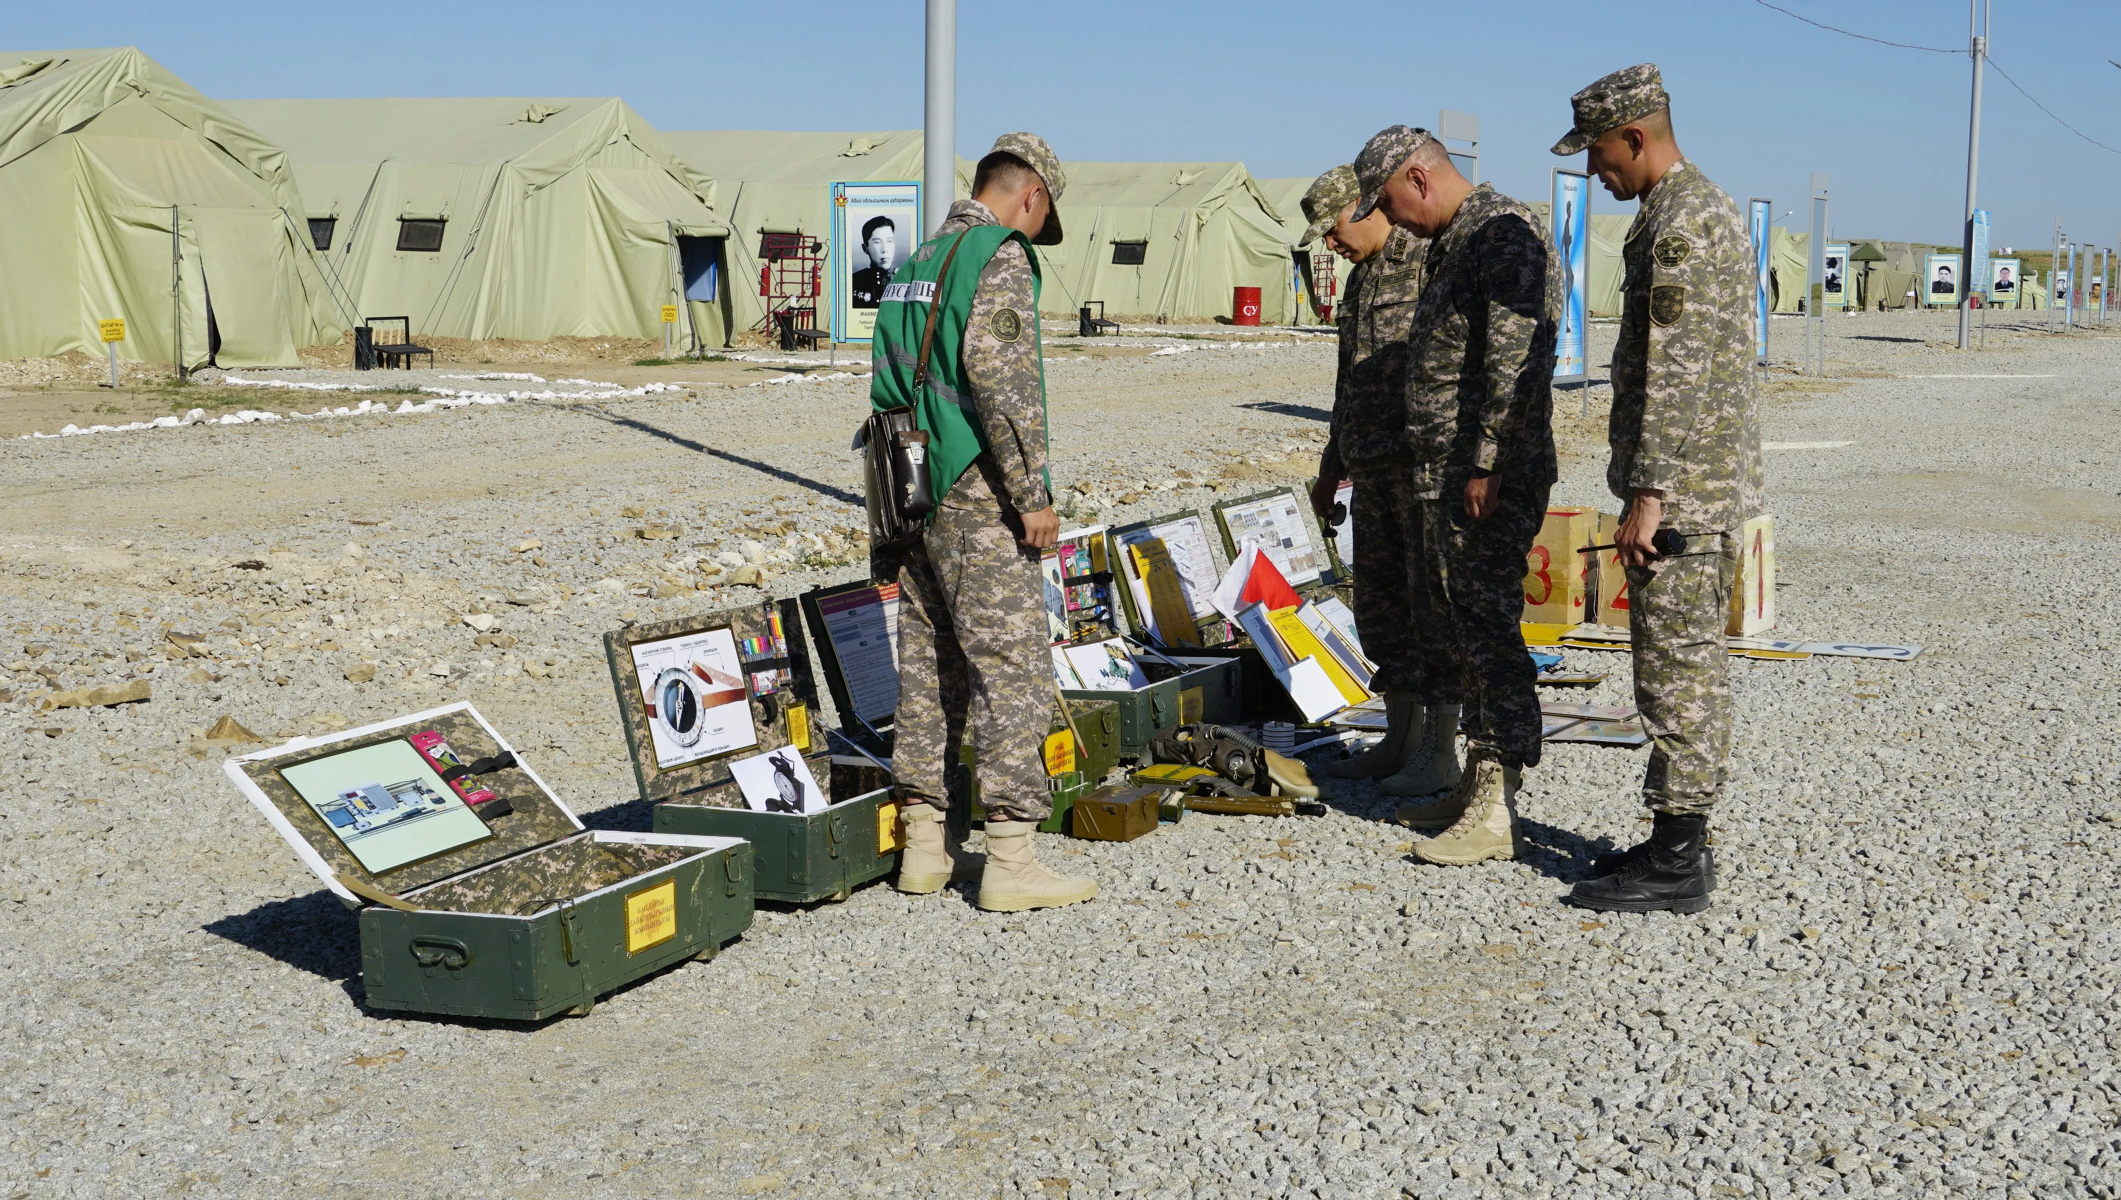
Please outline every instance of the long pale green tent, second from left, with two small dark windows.
[[662, 337], [685, 295], [702, 301], [691, 343], [723, 303], [715, 184], [621, 100], [227, 104], [286, 148], [363, 318], [409, 316], [414, 337]]

